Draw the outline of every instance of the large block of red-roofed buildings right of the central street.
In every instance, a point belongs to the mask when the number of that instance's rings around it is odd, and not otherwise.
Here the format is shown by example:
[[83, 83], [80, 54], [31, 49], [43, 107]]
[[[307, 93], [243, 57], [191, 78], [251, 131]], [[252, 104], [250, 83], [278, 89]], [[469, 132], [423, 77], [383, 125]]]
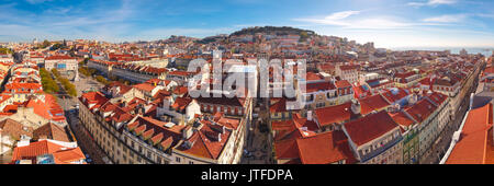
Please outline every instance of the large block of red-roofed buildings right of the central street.
[[[456, 118], [461, 102], [469, 96], [467, 90], [485, 62], [472, 55], [427, 53], [430, 56], [423, 58], [423, 54], [414, 55], [415, 60], [423, 61], [418, 66], [322, 63], [322, 72], [307, 72], [306, 81], [301, 82], [306, 83], [306, 91], [301, 92], [304, 109], [290, 109], [288, 97], [271, 98], [270, 127], [277, 162], [426, 162], [433, 149], [439, 148], [436, 142], [440, 133]], [[375, 67], [366, 70], [369, 66]], [[350, 98], [345, 98], [348, 94]]]

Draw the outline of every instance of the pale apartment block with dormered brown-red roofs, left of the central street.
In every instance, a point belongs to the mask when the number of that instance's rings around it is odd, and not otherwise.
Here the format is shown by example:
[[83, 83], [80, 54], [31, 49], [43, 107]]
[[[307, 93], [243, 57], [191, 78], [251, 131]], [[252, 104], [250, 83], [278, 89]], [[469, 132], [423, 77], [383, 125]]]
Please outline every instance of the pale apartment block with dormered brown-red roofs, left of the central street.
[[[180, 97], [186, 98], [186, 97]], [[249, 117], [232, 117], [215, 112], [192, 113], [189, 123], [155, 119], [155, 103], [134, 98], [127, 104], [111, 103], [100, 92], [83, 94], [79, 117], [108, 156], [115, 163], [238, 163]], [[178, 101], [181, 103], [181, 101]], [[179, 114], [187, 105], [171, 105]], [[150, 105], [149, 105], [150, 104]], [[199, 105], [195, 103], [195, 111]], [[251, 113], [251, 111], [246, 111]], [[250, 115], [250, 114], [249, 114]], [[177, 120], [172, 116], [172, 120]], [[198, 153], [206, 152], [209, 153]]]

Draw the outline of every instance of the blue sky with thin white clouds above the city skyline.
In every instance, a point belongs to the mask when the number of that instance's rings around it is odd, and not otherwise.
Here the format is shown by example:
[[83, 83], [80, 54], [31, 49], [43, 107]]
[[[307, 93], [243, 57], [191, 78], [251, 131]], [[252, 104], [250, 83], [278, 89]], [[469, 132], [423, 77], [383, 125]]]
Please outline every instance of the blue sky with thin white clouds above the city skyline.
[[492, 0], [2, 0], [0, 40], [204, 37], [295, 26], [377, 47], [494, 47]]

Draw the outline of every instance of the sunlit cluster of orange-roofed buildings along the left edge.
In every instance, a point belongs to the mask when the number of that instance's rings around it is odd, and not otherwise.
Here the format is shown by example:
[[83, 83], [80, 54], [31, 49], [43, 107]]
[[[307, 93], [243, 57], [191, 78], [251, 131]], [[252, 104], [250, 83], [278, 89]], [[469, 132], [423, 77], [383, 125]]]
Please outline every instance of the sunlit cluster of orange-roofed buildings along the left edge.
[[43, 92], [37, 61], [1, 61], [2, 163], [86, 164], [56, 97]]

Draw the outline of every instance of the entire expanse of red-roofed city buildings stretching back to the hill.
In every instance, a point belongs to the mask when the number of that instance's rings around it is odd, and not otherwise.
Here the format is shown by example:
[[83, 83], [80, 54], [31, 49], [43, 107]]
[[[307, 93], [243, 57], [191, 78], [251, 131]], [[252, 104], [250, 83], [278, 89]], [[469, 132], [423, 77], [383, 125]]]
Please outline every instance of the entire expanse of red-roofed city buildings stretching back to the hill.
[[[242, 163], [246, 147], [251, 144], [249, 136], [259, 133], [268, 136], [266, 153], [271, 163], [424, 163], [431, 149], [439, 148], [436, 141], [441, 133], [457, 115], [462, 115], [457, 111], [486, 63], [483, 56], [464, 51], [391, 51], [374, 48], [372, 43], [360, 45], [307, 31], [240, 32], [204, 39], [172, 36], [123, 44], [83, 39], [63, 43], [66, 48], [55, 51], [19, 45], [22, 62], [0, 61], [5, 63], [0, 63], [0, 70], [4, 69], [0, 72], [4, 77], [0, 120], [18, 119], [33, 130], [47, 124], [65, 127], [64, 111], [53, 96], [43, 93], [38, 66], [77, 74], [78, 62], [87, 58], [86, 66], [106, 79], [117, 77], [131, 82], [113, 81], [101, 90], [83, 90], [78, 97], [81, 126], [111, 162], [124, 164]], [[215, 56], [215, 51], [222, 51], [222, 56]], [[206, 61], [201, 70], [187, 71], [193, 59], [201, 58]], [[283, 66], [293, 68], [300, 63], [292, 61], [306, 60], [305, 78], [290, 77], [293, 81], [272, 81], [273, 70], [268, 70], [270, 94], [294, 82], [295, 96], [231, 96], [238, 92], [259, 94], [260, 63], [248, 63], [252, 58], [282, 59]], [[209, 75], [218, 59], [225, 70], [220, 78]], [[490, 70], [492, 67], [482, 72], [482, 89], [486, 91], [494, 86]], [[213, 89], [231, 73], [245, 73], [245, 81], [252, 80], [256, 89]], [[210, 95], [220, 96], [194, 97], [190, 88], [206, 88]], [[457, 133], [445, 155], [448, 162], [473, 160], [462, 156], [470, 150], [462, 150], [470, 147], [464, 143], [492, 140], [489, 113], [492, 104], [472, 107], [460, 128], [467, 137]], [[484, 127], [472, 126], [484, 119]], [[268, 132], [257, 132], [261, 125]], [[479, 128], [485, 131], [469, 135], [479, 132]], [[482, 135], [486, 138], [480, 138]], [[57, 139], [31, 144], [55, 146], [53, 141]], [[491, 148], [478, 144], [479, 156], [485, 147]], [[487, 162], [483, 156], [480, 163]]]

